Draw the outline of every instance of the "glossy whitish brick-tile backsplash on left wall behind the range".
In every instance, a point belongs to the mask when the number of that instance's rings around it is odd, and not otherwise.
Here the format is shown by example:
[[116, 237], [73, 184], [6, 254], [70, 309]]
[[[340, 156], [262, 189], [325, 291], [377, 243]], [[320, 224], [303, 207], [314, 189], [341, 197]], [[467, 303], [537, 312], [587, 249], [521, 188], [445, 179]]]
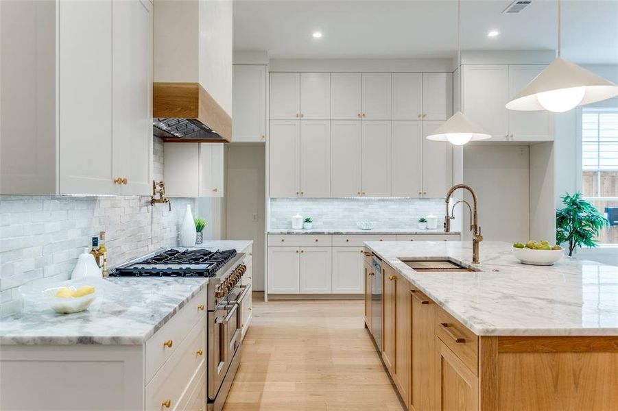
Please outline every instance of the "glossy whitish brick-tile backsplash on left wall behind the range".
[[[163, 142], [155, 138], [154, 179], [163, 178]], [[0, 315], [19, 309], [17, 287], [69, 279], [91, 237], [106, 232], [110, 266], [177, 245], [185, 205], [150, 206], [139, 196], [0, 196]]]

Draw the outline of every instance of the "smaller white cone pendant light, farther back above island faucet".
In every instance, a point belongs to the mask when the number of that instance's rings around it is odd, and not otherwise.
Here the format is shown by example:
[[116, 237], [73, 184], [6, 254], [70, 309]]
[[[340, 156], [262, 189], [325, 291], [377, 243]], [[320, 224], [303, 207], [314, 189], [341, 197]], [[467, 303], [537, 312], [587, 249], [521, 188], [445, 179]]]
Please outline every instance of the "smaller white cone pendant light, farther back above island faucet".
[[[457, 67], [460, 70], [462, 66], [461, 8], [461, 0], [457, 0]], [[464, 105], [463, 93], [460, 93], [460, 97], [460, 107], [462, 107]], [[491, 136], [458, 111], [426, 138], [433, 141], [448, 141], [452, 145], [459, 146], [470, 141], [487, 140]]]

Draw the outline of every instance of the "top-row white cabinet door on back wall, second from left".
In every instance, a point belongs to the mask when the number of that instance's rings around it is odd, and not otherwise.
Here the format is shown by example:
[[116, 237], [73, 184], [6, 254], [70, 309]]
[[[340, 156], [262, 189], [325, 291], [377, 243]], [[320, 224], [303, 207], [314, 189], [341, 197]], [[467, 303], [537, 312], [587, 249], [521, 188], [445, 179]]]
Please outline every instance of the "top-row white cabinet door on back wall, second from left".
[[331, 119], [331, 73], [300, 73], [300, 118]]

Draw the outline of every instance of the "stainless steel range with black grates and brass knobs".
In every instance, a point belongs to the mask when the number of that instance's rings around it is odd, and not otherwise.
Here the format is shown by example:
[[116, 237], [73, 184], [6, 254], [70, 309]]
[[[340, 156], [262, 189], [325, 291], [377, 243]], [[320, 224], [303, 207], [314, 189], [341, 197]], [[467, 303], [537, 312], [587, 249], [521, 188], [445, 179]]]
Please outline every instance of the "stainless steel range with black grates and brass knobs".
[[117, 277], [209, 277], [208, 409], [223, 408], [240, 363], [241, 312], [250, 287], [242, 285], [247, 267], [236, 250], [161, 249], [110, 273]]

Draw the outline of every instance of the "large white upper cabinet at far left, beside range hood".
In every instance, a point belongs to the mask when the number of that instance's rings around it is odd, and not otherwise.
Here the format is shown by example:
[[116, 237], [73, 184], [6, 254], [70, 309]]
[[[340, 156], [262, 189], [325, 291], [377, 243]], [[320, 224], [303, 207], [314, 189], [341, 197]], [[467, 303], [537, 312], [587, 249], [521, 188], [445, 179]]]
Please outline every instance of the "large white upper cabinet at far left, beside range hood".
[[7, 2], [1, 37], [0, 193], [150, 194], [152, 3]]

